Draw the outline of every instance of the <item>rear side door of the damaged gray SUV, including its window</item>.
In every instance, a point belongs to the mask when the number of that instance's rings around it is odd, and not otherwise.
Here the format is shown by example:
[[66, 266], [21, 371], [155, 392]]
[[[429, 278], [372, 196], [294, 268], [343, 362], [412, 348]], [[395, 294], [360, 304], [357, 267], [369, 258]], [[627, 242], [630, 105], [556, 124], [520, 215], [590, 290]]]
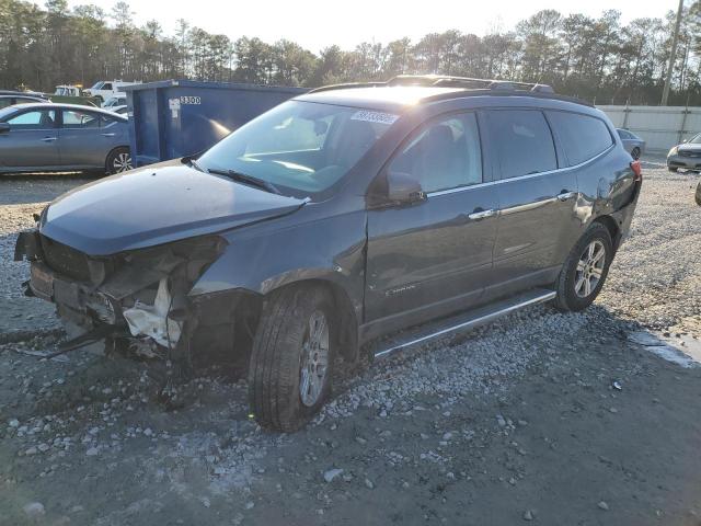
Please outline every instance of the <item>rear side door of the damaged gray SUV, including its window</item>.
[[492, 291], [503, 295], [555, 279], [581, 226], [577, 179], [564, 169], [543, 112], [492, 110], [485, 116], [501, 203]]

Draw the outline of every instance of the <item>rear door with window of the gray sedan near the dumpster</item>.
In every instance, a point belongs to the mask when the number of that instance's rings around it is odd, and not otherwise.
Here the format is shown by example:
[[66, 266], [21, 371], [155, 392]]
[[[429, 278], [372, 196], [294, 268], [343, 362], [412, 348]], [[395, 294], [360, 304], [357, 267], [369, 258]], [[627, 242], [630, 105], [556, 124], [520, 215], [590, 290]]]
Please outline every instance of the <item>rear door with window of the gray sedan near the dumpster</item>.
[[65, 165], [103, 168], [120, 134], [114, 119], [89, 110], [62, 110], [58, 147]]

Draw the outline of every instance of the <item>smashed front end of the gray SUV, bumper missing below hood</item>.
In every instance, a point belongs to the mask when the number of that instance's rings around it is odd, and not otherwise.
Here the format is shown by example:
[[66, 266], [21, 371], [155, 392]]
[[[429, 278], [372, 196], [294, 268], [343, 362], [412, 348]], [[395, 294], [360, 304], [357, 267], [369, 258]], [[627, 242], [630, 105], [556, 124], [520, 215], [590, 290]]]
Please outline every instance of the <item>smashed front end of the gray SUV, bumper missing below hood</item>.
[[90, 256], [31, 230], [20, 233], [14, 260], [31, 262], [25, 294], [54, 302], [78, 333], [108, 333], [140, 357], [177, 357], [197, 325], [187, 294], [225, 247], [206, 236]]

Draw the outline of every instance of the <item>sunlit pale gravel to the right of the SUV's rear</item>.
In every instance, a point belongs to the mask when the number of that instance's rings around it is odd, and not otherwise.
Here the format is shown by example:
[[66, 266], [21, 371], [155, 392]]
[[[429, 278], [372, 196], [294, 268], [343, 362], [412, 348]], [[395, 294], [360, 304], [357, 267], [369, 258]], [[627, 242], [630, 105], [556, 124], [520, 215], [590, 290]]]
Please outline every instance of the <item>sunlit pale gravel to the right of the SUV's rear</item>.
[[644, 164], [631, 237], [617, 254], [598, 302], [622, 318], [665, 329], [701, 312], [699, 176]]

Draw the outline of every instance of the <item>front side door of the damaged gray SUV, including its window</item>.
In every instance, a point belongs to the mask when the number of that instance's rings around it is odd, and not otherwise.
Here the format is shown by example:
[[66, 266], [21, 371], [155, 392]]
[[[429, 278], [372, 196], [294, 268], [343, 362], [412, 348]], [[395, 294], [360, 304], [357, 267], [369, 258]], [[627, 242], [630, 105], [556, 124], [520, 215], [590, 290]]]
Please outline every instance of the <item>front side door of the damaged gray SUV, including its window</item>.
[[368, 213], [366, 322], [421, 322], [476, 302], [492, 270], [498, 202], [482, 184], [474, 113], [423, 126], [388, 170], [416, 179], [427, 199]]

